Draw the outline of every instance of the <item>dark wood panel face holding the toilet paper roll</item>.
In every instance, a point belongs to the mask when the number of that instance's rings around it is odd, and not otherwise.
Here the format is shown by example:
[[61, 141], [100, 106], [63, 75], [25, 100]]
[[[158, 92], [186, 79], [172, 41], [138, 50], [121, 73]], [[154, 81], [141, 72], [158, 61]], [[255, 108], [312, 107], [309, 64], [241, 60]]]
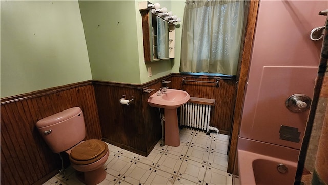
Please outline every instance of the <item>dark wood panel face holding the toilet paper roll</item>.
[[[130, 146], [136, 153], [145, 152], [141, 89], [104, 83], [95, 83], [94, 88], [103, 138], [114, 145]], [[129, 100], [134, 96], [133, 103], [121, 104], [123, 95]]]

